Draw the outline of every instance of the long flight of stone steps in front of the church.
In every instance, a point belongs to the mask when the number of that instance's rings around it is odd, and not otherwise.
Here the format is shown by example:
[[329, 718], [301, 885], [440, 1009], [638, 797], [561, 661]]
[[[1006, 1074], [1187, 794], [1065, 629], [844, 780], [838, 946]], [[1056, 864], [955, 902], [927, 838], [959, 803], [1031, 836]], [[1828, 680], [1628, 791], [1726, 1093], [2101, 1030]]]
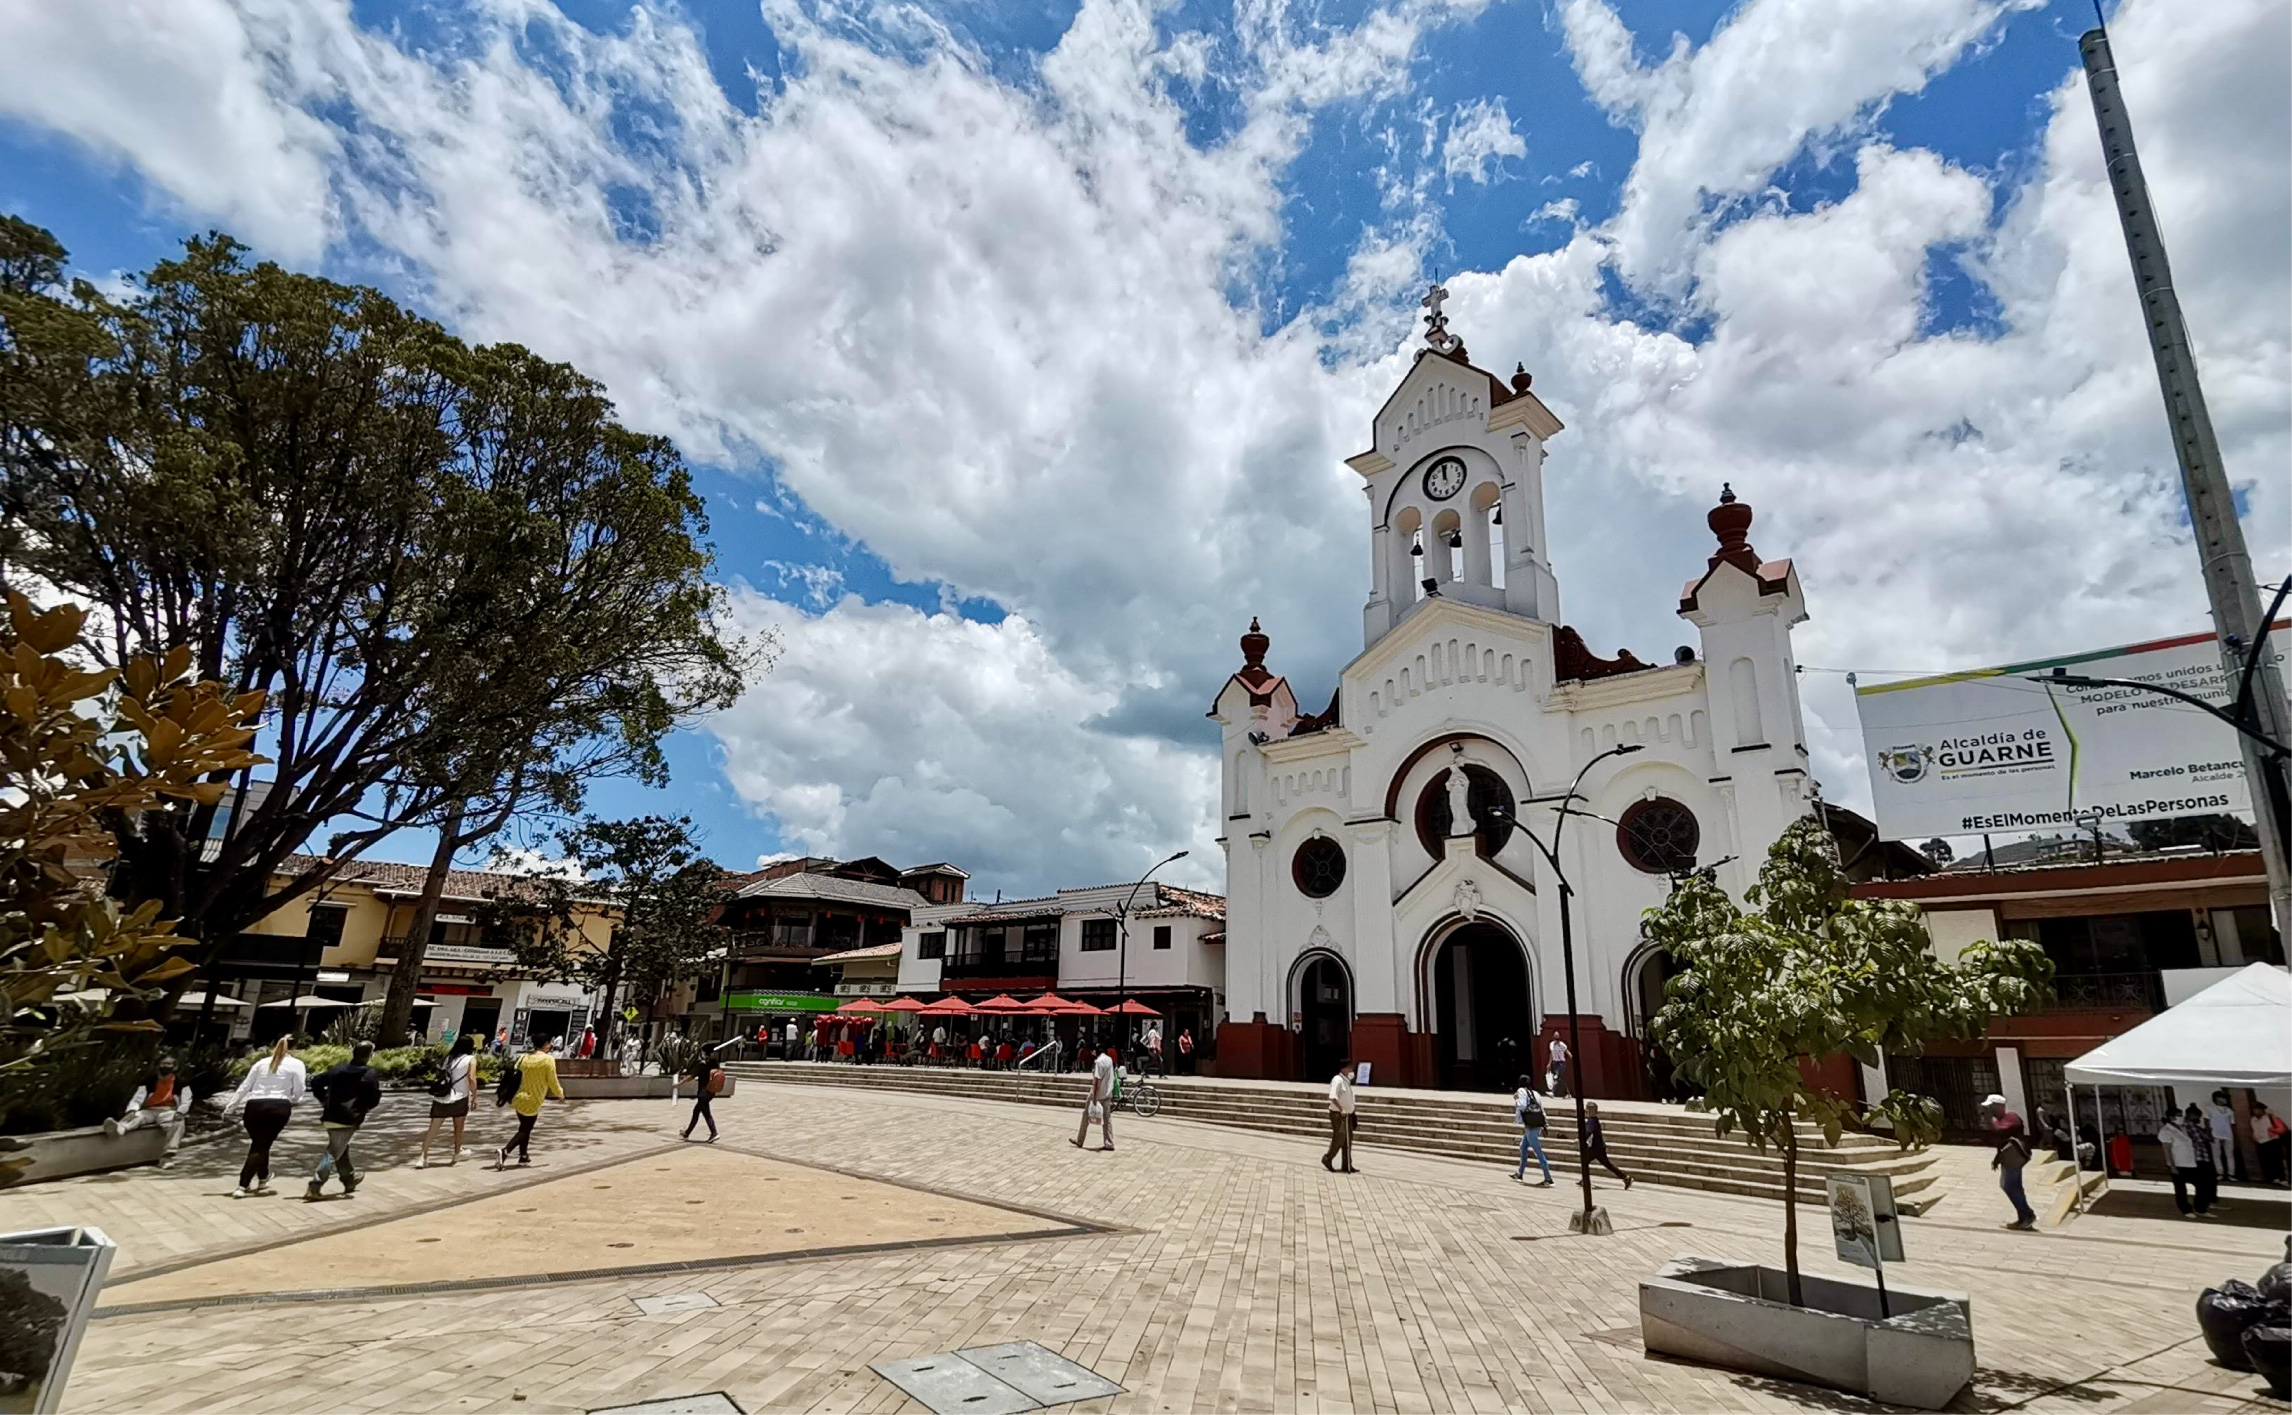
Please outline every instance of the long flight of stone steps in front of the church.
[[[935, 1066], [850, 1066], [818, 1062], [733, 1062], [729, 1071], [768, 1085], [846, 1085], [974, 1101], [1080, 1108], [1089, 1078], [1080, 1073], [963, 1071]], [[1206, 1082], [1164, 1078], [1162, 1115], [1199, 1124], [1233, 1126], [1274, 1135], [1320, 1138], [1329, 1133], [1327, 1101], [1318, 1087], [1281, 1082]], [[1547, 1099], [1552, 1124], [1545, 1156], [1554, 1176], [1575, 1163], [1575, 1115], [1568, 1101]], [[1634, 1181], [1696, 1188], [1705, 1193], [1783, 1197], [1783, 1158], [1760, 1154], [1742, 1140], [1719, 1140], [1712, 1119], [1671, 1108], [1602, 1110], [1607, 1151]], [[1494, 1163], [1510, 1170], [1520, 1160], [1520, 1126], [1510, 1096], [1471, 1092], [1375, 1092], [1359, 1094], [1357, 1142], [1444, 1158]], [[1565, 1163], [1563, 1163], [1565, 1160]], [[1822, 1204], [1824, 1176], [1884, 1174], [1895, 1204], [1921, 1213], [1941, 1199], [1941, 1170], [1930, 1154], [1905, 1154], [1877, 1135], [1843, 1135], [1836, 1149], [1802, 1126], [1799, 1183], [1804, 1202]]]

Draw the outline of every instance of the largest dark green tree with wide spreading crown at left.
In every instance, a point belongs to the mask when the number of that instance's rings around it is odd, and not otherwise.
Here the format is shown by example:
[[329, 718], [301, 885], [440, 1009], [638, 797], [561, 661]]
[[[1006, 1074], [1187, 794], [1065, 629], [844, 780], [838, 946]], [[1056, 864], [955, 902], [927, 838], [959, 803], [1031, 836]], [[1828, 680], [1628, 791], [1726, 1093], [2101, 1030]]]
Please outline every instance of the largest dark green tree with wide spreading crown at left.
[[571, 367], [220, 234], [112, 298], [0, 218], [0, 580], [94, 605], [101, 665], [183, 649], [264, 695], [270, 780], [103, 816], [202, 966], [504, 782], [571, 814], [601, 771], [662, 780], [660, 738], [749, 663], [711, 564], [676, 449]]

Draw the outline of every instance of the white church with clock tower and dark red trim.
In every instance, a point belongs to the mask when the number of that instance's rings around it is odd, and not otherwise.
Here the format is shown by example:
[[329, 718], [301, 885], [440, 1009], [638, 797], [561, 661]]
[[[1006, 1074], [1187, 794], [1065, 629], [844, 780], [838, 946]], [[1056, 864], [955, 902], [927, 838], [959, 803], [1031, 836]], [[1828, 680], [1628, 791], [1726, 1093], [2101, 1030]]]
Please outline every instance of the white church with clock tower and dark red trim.
[[[1563, 624], [1545, 539], [1559, 417], [1476, 369], [1435, 287], [1426, 349], [1350, 461], [1368, 511], [1361, 654], [1320, 713], [1267, 667], [1249, 624], [1222, 727], [1226, 1025], [1222, 1076], [1320, 1078], [1373, 1062], [1382, 1085], [1508, 1089], [1568, 1021], [1559, 835], [1575, 890], [1575, 988], [1593, 1096], [1662, 1087], [1643, 1046], [1664, 959], [1641, 913], [1675, 871], [1719, 865], [1737, 897], [1811, 810], [1788, 560], [1749, 544], [1721, 495], [1717, 548], [1678, 612], [1673, 663], [1598, 658]], [[1614, 748], [1625, 752], [1607, 755]], [[1588, 766], [1588, 771], [1586, 771]], [[1529, 1057], [1536, 1057], [1531, 1064]]]

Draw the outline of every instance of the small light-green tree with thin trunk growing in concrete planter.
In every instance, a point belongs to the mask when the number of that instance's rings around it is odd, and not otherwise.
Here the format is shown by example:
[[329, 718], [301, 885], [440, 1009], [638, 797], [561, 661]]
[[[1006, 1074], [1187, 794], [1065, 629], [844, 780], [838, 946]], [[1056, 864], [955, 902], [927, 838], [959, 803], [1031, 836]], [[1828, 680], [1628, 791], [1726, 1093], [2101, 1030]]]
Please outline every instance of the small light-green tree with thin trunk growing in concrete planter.
[[1834, 1096], [1802, 1057], [1852, 1055], [1877, 1064], [1928, 1041], [1980, 1037], [1992, 1018], [2031, 1011], [2049, 993], [2054, 963], [2035, 943], [1976, 943], [1955, 963], [1932, 954], [1925, 920], [1898, 899], [1850, 899], [1838, 846], [1820, 816], [1802, 816], [1735, 908], [1712, 871], [1678, 883], [1643, 931], [1671, 952], [1675, 972], [1655, 1014], [1655, 1041], [1680, 1076], [1703, 1087], [1721, 1135], [1742, 1131], [1783, 1151], [1783, 1266], [1799, 1289], [1799, 1133], [1822, 1126], [1829, 1144], [1850, 1121], [1884, 1117], [1902, 1149], [1941, 1133], [1941, 1108], [1889, 1092], [1868, 1108]]

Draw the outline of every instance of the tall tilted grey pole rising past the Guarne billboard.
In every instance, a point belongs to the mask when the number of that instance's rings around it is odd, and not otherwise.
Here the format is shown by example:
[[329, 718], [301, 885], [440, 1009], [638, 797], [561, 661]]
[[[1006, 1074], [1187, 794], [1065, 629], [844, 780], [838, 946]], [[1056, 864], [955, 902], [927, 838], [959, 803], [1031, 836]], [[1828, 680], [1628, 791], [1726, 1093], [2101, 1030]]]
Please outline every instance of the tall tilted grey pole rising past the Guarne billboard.
[[[2134, 264], [2134, 291], [2148, 323], [2150, 351], [2157, 355], [2157, 383], [2164, 388], [2166, 420], [2173, 424], [2173, 452], [2180, 459], [2180, 484], [2189, 498], [2189, 525], [2205, 571], [2205, 596], [2212, 601], [2212, 626], [2221, 635], [2221, 670], [2230, 697], [2246, 722], [2239, 732], [2244, 777], [2253, 794], [2253, 826], [2260, 832], [2260, 855], [2269, 869], [2269, 904], [2276, 929], [2292, 931], [2292, 867], [2285, 865], [2285, 819], [2292, 807], [2292, 784], [2285, 780], [2285, 757], [2262, 743], [2292, 741], [2292, 711], [2285, 706], [2283, 674], [2276, 654], [2267, 649], [2267, 619], [2260, 612], [2260, 589], [2253, 583], [2253, 557], [2244, 548], [2237, 505], [2221, 468], [2221, 445], [2212, 436], [2212, 413], [2196, 381], [2196, 355], [2189, 351], [2189, 328], [2180, 319], [2173, 294], [2173, 268], [2164, 259], [2164, 236], [2141, 179], [2141, 156], [2134, 151], [2134, 126], [2118, 92], [2118, 67], [2109, 53], [2109, 32], [2086, 30], [2077, 41], [2086, 60], [2086, 85], [2093, 92], [2093, 117], [2102, 126], [2102, 156], [2109, 161], [2109, 186], [2118, 197], [2118, 220], [2125, 222], [2125, 250]], [[2248, 693], [2239, 695], [2239, 683]], [[2255, 741], [2258, 738], [2258, 741]]]

